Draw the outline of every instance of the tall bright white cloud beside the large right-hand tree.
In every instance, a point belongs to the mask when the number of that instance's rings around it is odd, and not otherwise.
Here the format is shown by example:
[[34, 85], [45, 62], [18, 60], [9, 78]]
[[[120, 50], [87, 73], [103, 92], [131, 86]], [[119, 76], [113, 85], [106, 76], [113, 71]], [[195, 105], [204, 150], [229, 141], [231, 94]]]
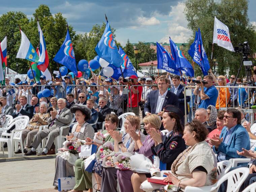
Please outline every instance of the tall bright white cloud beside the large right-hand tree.
[[171, 6], [171, 12], [169, 13], [171, 19], [168, 22], [168, 33], [160, 39], [160, 42], [169, 42], [169, 36], [176, 43], [187, 42], [191, 31], [187, 28], [188, 22], [183, 13], [184, 7], [185, 4], [180, 2], [176, 6]]

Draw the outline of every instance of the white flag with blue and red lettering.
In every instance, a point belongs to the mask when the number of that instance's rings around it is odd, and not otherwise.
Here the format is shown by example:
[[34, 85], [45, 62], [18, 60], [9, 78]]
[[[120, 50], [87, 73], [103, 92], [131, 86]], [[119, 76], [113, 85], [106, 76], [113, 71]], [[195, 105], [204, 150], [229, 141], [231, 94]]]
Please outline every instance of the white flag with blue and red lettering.
[[229, 51], [234, 51], [228, 27], [220, 22], [216, 17], [214, 19], [213, 43], [217, 43], [219, 46]]

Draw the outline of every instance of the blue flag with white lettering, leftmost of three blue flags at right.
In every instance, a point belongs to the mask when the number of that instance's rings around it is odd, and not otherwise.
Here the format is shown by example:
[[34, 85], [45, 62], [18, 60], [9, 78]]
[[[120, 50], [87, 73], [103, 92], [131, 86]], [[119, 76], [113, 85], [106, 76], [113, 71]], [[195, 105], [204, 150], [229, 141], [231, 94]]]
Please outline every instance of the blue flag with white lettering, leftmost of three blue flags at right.
[[180, 75], [180, 71], [176, 68], [170, 54], [158, 42], [156, 42], [156, 54], [158, 69], [164, 69], [175, 75]]

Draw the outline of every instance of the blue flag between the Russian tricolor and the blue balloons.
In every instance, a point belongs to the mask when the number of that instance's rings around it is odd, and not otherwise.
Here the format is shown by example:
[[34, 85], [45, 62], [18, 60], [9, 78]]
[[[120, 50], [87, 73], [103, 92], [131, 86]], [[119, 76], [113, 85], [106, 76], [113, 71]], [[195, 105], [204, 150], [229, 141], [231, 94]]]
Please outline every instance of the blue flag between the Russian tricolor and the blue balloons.
[[75, 54], [68, 29], [66, 38], [53, 60], [57, 63], [66, 66], [70, 71], [72, 71], [77, 76]]

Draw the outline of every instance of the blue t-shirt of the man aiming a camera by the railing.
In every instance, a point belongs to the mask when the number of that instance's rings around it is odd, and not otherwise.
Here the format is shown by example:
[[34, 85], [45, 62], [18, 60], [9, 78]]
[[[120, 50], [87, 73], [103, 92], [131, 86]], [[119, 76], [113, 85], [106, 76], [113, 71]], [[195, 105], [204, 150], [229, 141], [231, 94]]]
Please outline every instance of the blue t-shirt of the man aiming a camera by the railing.
[[216, 101], [218, 98], [218, 90], [216, 87], [214, 85], [209, 88], [204, 87], [203, 90], [204, 93], [208, 95], [209, 99], [201, 100], [198, 107], [207, 109], [209, 105], [216, 106]]

